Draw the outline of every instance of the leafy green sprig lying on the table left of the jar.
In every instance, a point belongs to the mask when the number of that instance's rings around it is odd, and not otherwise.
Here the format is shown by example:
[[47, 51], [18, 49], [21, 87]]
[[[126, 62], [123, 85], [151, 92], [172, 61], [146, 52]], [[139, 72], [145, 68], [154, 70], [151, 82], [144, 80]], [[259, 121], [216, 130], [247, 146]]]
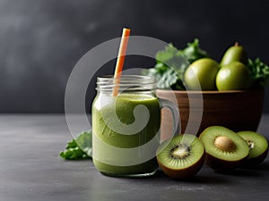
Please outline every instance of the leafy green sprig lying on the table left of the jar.
[[84, 160], [91, 158], [92, 132], [84, 131], [77, 138], [67, 142], [65, 151], [60, 156], [65, 160]]

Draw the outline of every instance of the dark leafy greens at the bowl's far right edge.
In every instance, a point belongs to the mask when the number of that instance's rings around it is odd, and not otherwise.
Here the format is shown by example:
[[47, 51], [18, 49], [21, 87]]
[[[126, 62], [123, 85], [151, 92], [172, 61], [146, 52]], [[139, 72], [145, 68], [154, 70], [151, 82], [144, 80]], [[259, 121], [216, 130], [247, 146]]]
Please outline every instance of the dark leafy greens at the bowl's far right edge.
[[254, 80], [253, 88], [264, 88], [269, 83], [269, 66], [259, 58], [256, 60], [248, 59], [247, 66]]

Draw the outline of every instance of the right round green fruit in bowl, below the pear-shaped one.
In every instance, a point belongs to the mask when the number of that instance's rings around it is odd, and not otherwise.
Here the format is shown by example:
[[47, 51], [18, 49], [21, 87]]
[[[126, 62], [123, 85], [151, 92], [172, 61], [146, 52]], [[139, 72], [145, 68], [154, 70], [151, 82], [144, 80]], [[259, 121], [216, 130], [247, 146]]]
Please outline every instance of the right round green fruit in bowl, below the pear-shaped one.
[[251, 87], [250, 71], [243, 63], [233, 62], [221, 67], [217, 73], [218, 90], [244, 90]]

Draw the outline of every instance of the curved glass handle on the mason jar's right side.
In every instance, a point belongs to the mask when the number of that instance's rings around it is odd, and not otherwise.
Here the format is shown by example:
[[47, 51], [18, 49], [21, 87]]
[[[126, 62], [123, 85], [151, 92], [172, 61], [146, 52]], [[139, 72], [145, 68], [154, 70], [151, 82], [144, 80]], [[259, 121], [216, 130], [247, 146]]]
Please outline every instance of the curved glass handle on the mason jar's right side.
[[178, 111], [178, 106], [174, 104], [172, 101], [169, 101], [167, 99], [159, 98], [159, 100], [161, 104], [161, 109], [166, 107], [172, 113], [172, 117], [173, 117], [172, 137], [174, 137], [176, 134], [179, 134], [181, 131], [180, 114]]

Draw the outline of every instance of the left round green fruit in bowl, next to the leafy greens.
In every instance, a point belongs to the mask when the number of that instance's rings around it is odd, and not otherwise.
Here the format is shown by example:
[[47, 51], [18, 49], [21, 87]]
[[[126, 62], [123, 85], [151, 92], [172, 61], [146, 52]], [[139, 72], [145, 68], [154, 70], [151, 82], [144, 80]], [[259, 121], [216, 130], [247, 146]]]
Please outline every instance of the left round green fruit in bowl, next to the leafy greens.
[[213, 59], [198, 59], [188, 66], [184, 75], [185, 85], [190, 90], [213, 90], [218, 71], [219, 63]]

